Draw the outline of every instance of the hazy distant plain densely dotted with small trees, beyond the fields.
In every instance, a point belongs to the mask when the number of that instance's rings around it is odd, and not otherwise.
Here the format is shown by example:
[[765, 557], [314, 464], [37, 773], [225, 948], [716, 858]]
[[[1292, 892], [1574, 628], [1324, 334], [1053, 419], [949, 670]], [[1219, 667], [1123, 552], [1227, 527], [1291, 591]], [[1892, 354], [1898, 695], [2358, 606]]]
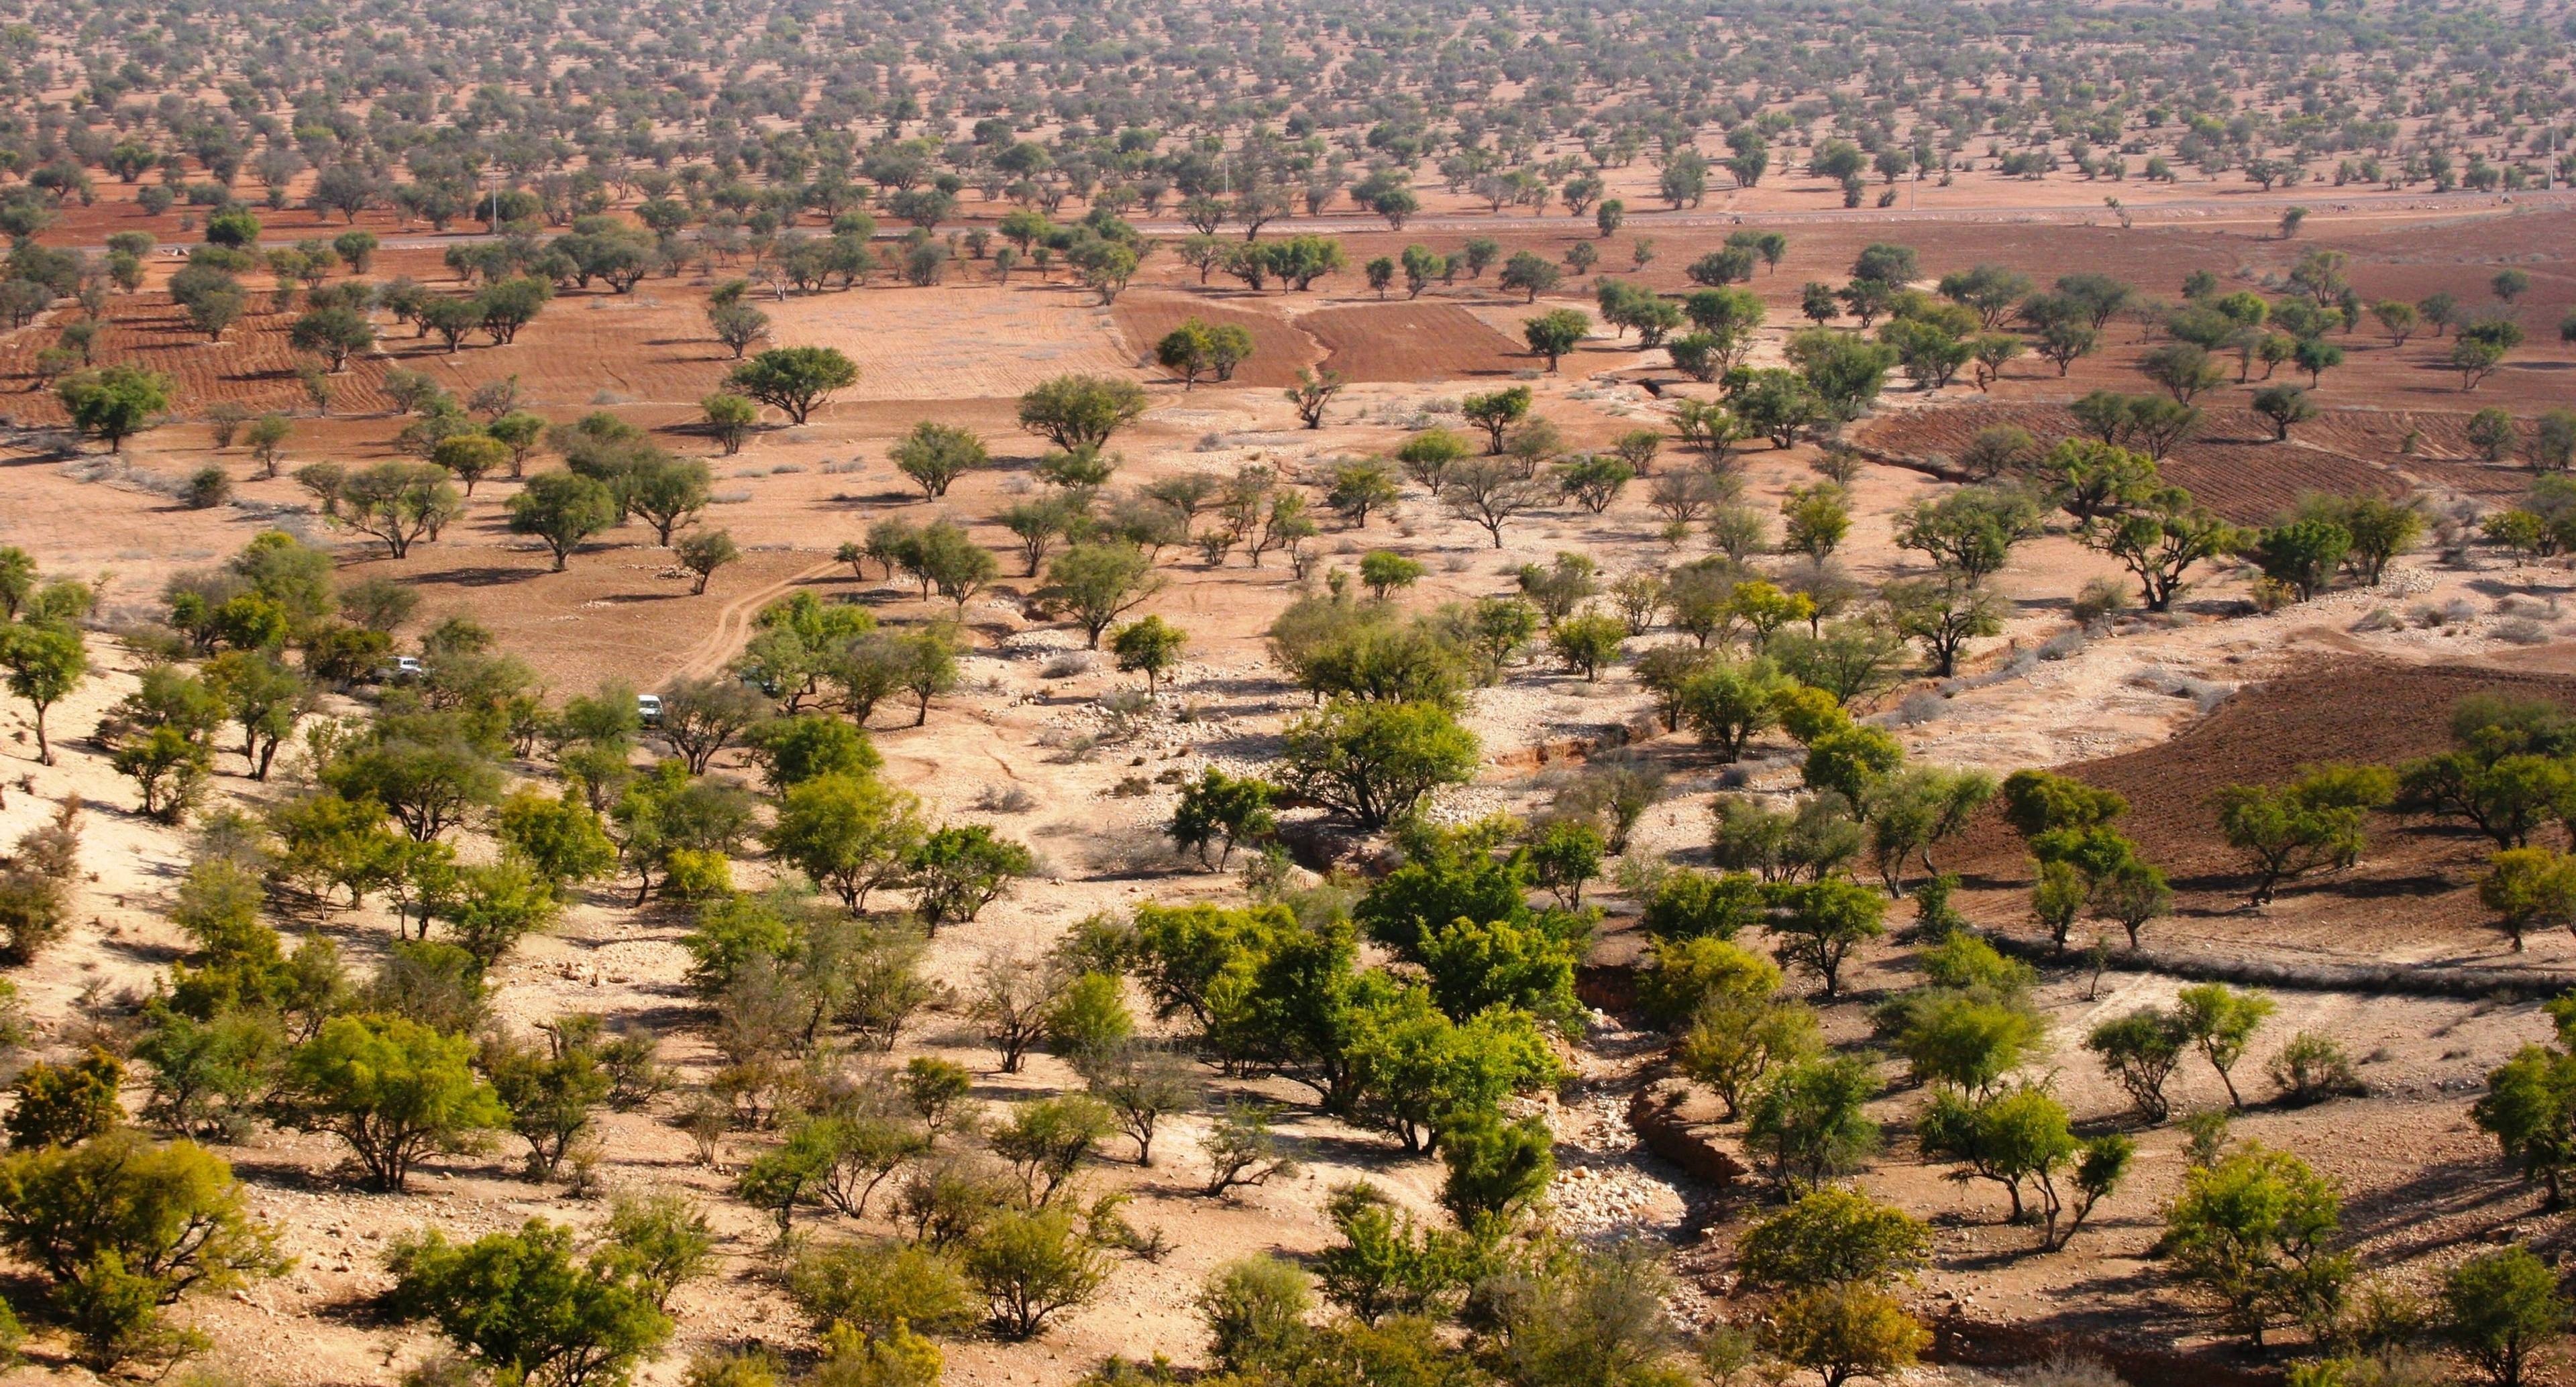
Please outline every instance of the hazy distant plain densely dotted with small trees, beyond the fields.
[[[866, 206], [930, 226], [969, 190], [1257, 234], [1345, 201], [1401, 224], [1422, 206], [1414, 180], [1437, 178], [1494, 211], [1561, 201], [1582, 216], [1615, 206], [1605, 175], [1641, 157], [1674, 208], [1700, 206], [1718, 172], [1754, 185], [1795, 170], [1844, 206], [1875, 178], [1886, 206], [1899, 180], [1968, 170], [2499, 190], [2566, 162], [2555, 33], [2491, 13], [2151, 15], [2120, 36], [2043, 23], [2007, 41], [1955, 5], [1718, 23], [1685, 5], [1610, 21], [1522, 8], [1497, 28], [1414, 8], [1309, 13], [1278, 33], [1154, 10], [1108, 23], [1115, 39], [976, 21], [958, 41], [873, 8], [796, 33], [693, 18], [677, 57], [634, 51], [613, 18], [404, 18], [399, 57], [265, 15], [142, 41], [90, 21], [46, 13], [13, 36], [0, 165], [23, 180], [21, 221], [93, 201], [100, 178], [139, 185], [152, 214], [227, 206], [247, 175], [270, 208], [348, 219], [569, 226], [631, 206], [662, 234], [757, 242]], [[1023, 67], [994, 75], [989, 44]], [[1376, 62], [1334, 72], [1352, 44]], [[930, 59], [891, 57], [925, 46]], [[57, 87], [82, 95], [39, 100]], [[214, 90], [227, 95], [201, 95]]]

